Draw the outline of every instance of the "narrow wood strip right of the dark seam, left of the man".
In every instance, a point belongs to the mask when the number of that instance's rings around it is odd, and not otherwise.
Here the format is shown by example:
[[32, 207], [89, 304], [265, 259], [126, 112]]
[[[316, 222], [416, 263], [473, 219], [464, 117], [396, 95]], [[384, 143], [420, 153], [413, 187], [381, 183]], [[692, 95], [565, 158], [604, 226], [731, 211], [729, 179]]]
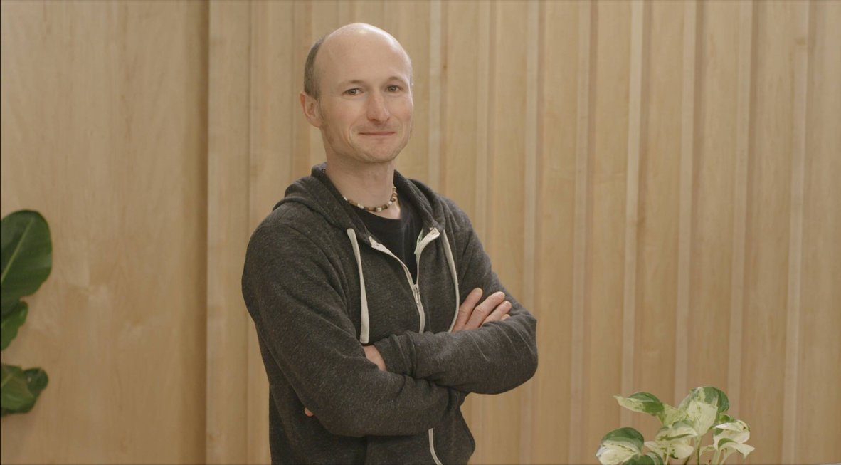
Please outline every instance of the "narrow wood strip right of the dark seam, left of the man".
[[240, 276], [249, 237], [251, 3], [210, 4], [207, 457], [247, 457], [248, 315]]

